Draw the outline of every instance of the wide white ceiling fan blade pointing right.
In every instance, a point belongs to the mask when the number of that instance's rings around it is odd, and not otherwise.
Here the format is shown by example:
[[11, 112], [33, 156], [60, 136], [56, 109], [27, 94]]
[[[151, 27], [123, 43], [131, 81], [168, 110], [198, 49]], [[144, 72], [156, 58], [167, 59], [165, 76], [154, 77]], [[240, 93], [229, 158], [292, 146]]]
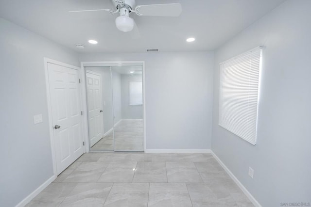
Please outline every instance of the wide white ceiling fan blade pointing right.
[[180, 3], [139, 5], [135, 8], [141, 16], [179, 16], [182, 8]]

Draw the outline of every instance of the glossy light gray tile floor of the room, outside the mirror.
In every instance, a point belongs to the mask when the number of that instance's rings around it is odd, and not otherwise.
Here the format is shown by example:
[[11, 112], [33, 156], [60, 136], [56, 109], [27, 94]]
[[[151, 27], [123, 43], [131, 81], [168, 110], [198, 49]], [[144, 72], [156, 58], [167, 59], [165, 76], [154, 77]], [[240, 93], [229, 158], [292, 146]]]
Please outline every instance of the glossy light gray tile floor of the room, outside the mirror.
[[27, 207], [253, 207], [210, 154], [87, 153]]

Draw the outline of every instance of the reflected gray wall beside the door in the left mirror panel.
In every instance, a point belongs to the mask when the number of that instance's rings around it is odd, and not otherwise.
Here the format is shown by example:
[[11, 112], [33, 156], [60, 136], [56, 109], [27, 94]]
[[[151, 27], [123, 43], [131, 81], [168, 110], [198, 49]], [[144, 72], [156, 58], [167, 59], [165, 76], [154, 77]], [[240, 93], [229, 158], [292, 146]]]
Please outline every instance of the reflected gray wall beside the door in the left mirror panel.
[[112, 90], [111, 90], [111, 73], [109, 67], [86, 67], [102, 75], [102, 98], [103, 98], [103, 116], [104, 116], [104, 133], [109, 131], [113, 126], [112, 112]]

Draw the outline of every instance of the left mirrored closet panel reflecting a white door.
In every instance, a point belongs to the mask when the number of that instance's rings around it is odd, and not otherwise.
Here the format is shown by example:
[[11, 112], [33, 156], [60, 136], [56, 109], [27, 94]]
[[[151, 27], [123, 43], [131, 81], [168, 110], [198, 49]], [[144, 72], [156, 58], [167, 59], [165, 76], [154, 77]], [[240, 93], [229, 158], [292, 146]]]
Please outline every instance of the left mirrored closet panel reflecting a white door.
[[90, 150], [114, 150], [110, 66], [85, 67]]

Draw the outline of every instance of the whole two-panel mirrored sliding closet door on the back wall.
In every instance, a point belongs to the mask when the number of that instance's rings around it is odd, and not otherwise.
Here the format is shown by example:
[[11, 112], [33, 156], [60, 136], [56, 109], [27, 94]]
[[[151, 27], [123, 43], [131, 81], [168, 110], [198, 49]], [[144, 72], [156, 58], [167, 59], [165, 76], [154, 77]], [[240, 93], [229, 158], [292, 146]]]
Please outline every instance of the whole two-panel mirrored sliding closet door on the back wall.
[[143, 151], [142, 65], [85, 71], [90, 151]]

